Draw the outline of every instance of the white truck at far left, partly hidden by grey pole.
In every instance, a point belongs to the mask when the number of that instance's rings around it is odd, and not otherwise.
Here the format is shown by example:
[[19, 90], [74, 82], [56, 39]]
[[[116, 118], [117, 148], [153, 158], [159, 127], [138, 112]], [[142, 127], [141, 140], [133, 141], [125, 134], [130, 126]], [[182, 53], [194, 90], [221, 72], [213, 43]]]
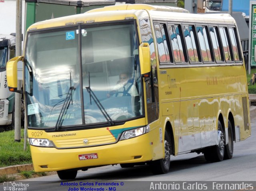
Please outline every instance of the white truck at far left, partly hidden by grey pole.
[[[22, 0], [22, 33], [25, 0]], [[14, 93], [8, 89], [6, 62], [15, 57], [16, 0], [0, 0], [0, 128], [14, 127]], [[22, 109], [23, 110], [23, 109]], [[22, 112], [23, 114], [23, 112]], [[22, 124], [24, 117], [22, 118]]]

